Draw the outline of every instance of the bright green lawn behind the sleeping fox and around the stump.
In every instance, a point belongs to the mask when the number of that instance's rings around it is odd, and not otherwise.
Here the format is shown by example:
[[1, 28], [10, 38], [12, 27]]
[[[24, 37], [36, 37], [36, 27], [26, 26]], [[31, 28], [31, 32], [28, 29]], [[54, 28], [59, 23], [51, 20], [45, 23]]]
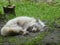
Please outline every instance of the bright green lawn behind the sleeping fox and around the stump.
[[[7, 5], [7, 1], [1, 1], [0, 10], [3, 10], [3, 6]], [[31, 2], [16, 2], [13, 1], [12, 4], [16, 5], [16, 15], [17, 16], [33, 16], [35, 18], [40, 18], [41, 20], [48, 20], [52, 26], [52, 23], [60, 17], [60, 6], [59, 3], [48, 5], [47, 3], [31, 3]], [[3, 11], [2, 11], [3, 12]]]

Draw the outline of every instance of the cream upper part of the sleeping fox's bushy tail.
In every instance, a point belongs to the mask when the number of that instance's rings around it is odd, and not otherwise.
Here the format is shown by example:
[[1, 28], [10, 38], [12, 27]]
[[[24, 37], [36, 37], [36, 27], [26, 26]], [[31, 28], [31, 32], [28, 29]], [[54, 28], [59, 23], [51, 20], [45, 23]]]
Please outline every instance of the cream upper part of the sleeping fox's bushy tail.
[[20, 31], [21, 30], [23, 30], [21, 27], [3, 27], [2, 29], [1, 29], [1, 35], [3, 35], [3, 36], [7, 36], [7, 35], [9, 35], [9, 31], [14, 31], [14, 32], [16, 32], [16, 33], [20, 33]]

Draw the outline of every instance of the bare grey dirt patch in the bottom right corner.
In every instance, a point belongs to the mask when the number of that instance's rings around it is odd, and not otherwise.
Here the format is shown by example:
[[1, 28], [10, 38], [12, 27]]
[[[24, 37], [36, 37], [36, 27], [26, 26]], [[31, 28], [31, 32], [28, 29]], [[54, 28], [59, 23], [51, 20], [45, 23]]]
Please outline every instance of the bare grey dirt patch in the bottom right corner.
[[58, 45], [60, 43], [60, 28], [55, 28], [55, 30], [48, 34], [42, 42], [44, 45]]

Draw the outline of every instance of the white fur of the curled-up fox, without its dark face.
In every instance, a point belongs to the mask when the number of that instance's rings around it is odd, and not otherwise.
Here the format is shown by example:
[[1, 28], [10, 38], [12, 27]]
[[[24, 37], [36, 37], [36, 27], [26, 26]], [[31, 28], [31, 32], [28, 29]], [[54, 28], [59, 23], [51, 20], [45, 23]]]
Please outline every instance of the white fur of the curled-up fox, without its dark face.
[[1, 35], [7, 36], [8, 35], [7, 33], [11, 29], [16, 33], [20, 33], [21, 30], [27, 31], [27, 28], [32, 25], [36, 25], [39, 29], [45, 26], [45, 24], [41, 20], [39, 20], [39, 22], [36, 23], [36, 19], [33, 17], [27, 16], [16, 17], [12, 20], [9, 20], [6, 23], [6, 25], [1, 29]]

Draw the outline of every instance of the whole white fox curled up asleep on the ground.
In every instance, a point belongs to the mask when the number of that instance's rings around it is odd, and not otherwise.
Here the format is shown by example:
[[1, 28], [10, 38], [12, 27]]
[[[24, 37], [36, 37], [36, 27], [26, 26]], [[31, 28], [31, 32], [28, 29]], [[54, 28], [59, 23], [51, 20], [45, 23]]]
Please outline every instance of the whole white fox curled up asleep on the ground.
[[16, 34], [28, 34], [28, 32], [36, 32], [42, 30], [45, 24], [41, 20], [37, 20], [33, 17], [20, 16], [9, 20], [1, 29], [1, 35], [16, 35]]

